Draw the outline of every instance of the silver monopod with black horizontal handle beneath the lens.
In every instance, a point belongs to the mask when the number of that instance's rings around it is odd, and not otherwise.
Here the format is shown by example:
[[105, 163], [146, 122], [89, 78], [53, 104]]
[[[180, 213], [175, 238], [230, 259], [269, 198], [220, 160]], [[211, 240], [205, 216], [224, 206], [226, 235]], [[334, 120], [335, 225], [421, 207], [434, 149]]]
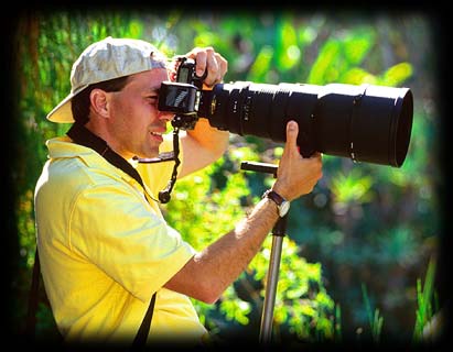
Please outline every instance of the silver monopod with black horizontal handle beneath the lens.
[[[265, 163], [242, 162], [241, 169], [252, 170], [258, 173], [272, 174], [277, 177], [278, 166]], [[266, 283], [266, 294], [261, 315], [261, 326], [259, 342], [268, 344], [272, 334], [273, 307], [276, 305], [277, 284], [279, 280], [279, 268], [281, 260], [281, 249], [283, 237], [287, 232], [288, 215], [280, 218], [272, 229], [272, 246], [269, 262], [268, 279]]]

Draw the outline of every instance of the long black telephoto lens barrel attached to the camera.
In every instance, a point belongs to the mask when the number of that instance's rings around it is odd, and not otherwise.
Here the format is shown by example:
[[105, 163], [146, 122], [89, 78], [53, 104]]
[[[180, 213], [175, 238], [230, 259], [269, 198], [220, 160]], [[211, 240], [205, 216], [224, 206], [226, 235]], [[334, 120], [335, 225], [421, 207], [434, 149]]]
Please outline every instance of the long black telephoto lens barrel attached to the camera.
[[203, 90], [199, 116], [240, 135], [285, 141], [285, 125], [299, 123], [303, 156], [313, 152], [354, 162], [400, 167], [409, 148], [413, 97], [409, 88], [249, 81]]

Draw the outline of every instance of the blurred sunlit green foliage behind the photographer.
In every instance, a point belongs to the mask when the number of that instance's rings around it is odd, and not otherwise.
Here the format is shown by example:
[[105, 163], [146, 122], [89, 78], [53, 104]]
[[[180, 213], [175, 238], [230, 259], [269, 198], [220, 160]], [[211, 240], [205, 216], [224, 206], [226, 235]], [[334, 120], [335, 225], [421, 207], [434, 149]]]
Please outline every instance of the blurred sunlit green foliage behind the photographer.
[[[14, 25], [11, 63], [12, 331], [21, 333], [26, 316], [35, 249], [33, 191], [46, 160], [45, 141], [69, 128], [45, 116], [69, 92], [71, 67], [82, 51], [111, 35], [152, 42], [169, 57], [214, 46], [228, 59], [226, 81], [409, 87], [414, 116], [402, 167], [324, 155], [323, 178], [292, 204], [272, 332], [274, 341], [296, 344], [409, 344], [442, 332], [439, 321], [445, 321], [450, 298], [442, 294], [440, 261], [438, 29], [435, 18], [423, 11], [23, 11]], [[273, 182], [241, 170], [240, 163], [277, 163], [281, 153], [282, 144], [231, 134], [220, 161], [176, 183], [172, 201], [163, 206], [169, 223], [197, 249], [211, 243]], [[271, 235], [217, 304], [194, 302], [219, 339], [244, 334], [258, 341], [270, 241]], [[438, 324], [430, 329], [432, 321]], [[39, 339], [56, 339], [43, 288], [36, 329]]]

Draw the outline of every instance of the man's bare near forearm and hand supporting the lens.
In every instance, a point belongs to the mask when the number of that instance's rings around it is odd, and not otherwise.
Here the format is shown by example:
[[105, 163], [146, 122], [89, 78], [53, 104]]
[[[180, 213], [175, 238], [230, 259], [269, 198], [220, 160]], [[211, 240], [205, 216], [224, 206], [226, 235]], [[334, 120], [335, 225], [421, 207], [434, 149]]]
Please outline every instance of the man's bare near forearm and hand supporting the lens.
[[[321, 154], [303, 158], [296, 146], [298, 124], [290, 122], [278, 178], [272, 189], [293, 200], [312, 191], [322, 177]], [[236, 228], [195, 254], [164, 286], [214, 302], [247, 267], [278, 219], [277, 205], [260, 200]]]

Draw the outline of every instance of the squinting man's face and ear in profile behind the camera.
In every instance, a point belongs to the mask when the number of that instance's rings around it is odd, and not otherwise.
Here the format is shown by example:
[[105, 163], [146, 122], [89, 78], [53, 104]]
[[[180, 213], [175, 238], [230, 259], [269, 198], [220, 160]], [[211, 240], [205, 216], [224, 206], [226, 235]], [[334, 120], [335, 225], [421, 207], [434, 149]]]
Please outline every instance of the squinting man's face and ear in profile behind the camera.
[[158, 110], [165, 68], [153, 68], [129, 77], [121, 91], [108, 94], [110, 146], [122, 157], [155, 157], [166, 122], [173, 118]]

